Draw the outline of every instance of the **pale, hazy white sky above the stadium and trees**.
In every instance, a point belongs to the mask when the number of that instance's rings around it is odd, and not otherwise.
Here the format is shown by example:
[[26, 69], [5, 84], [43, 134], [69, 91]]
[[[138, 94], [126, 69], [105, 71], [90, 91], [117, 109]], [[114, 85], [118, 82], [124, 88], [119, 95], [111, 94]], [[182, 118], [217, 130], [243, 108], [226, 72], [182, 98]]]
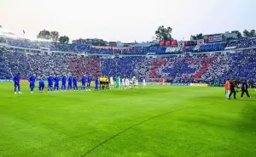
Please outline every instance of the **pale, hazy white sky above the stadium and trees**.
[[41, 30], [73, 39], [152, 41], [159, 25], [177, 40], [256, 29], [255, 0], [0, 0], [3, 29], [35, 38]]

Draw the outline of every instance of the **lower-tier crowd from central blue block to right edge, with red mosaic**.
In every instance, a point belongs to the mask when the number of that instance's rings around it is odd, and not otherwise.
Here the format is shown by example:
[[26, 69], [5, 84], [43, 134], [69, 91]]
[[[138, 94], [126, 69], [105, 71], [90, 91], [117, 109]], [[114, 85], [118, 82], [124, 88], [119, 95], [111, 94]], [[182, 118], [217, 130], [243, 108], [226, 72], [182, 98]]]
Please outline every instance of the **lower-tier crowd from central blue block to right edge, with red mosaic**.
[[167, 58], [102, 59], [106, 76], [166, 78], [172, 81], [223, 83], [227, 78], [256, 81], [256, 52], [200, 54]]

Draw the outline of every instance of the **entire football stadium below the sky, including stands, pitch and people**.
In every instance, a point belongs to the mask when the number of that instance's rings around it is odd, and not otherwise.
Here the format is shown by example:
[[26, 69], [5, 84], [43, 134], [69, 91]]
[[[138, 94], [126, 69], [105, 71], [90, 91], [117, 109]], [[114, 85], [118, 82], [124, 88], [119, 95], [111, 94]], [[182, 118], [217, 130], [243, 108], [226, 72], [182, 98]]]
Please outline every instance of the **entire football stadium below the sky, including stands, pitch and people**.
[[160, 26], [122, 43], [21, 31], [0, 25], [0, 156], [256, 156], [255, 30], [178, 40]]

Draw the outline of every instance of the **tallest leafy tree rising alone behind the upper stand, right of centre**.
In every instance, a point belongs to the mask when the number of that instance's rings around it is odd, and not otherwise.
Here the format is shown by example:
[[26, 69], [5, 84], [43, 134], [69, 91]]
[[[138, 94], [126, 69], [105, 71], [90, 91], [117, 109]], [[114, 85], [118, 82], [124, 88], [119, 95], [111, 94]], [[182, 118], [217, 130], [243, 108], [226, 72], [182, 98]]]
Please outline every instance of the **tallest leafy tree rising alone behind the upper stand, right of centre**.
[[160, 25], [157, 31], [154, 32], [158, 40], [171, 41], [172, 40], [172, 27], [165, 28], [164, 25]]

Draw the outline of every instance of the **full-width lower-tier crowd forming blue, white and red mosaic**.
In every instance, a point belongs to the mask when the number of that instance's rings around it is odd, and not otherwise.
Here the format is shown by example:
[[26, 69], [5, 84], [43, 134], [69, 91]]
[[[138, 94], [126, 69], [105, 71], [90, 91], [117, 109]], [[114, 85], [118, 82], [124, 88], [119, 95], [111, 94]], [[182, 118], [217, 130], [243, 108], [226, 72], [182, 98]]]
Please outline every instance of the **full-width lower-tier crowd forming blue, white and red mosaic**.
[[99, 76], [138, 76], [165, 78], [171, 81], [221, 81], [227, 78], [256, 81], [256, 51], [180, 55], [164, 58], [124, 57], [119, 59], [99, 56], [79, 56], [62, 53], [0, 53], [1, 79], [9, 79], [20, 72], [26, 79], [35, 73], [46, 78], [50, 73]]

